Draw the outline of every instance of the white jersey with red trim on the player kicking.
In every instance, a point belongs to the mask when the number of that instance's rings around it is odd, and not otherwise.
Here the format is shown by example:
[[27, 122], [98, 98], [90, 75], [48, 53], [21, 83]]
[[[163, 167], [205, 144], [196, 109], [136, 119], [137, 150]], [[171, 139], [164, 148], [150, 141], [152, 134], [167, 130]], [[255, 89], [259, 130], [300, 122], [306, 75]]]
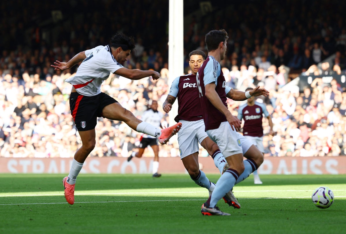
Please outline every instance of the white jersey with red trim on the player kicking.
[[101, 93], [101, 84], [110, 73], [123, 66], [113, 57], [110, 45], [85, 50], [85, 56], [76, 75], [65, 81], [73, 85], [79, 94], [95, 96]]

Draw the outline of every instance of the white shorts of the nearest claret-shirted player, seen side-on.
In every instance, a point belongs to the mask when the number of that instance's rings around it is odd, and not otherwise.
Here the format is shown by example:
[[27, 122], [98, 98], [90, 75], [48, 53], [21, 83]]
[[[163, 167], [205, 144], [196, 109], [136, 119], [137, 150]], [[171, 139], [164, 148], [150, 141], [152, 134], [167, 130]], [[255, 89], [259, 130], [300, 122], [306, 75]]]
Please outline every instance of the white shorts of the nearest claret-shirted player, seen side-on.
[[225, 158], [235, 154], [245, 154], [253, 145], [242, 134], [232, 130], [228, 122], [222, 122], [217, 129], [207, 130], [207, 134], [216, 142]]

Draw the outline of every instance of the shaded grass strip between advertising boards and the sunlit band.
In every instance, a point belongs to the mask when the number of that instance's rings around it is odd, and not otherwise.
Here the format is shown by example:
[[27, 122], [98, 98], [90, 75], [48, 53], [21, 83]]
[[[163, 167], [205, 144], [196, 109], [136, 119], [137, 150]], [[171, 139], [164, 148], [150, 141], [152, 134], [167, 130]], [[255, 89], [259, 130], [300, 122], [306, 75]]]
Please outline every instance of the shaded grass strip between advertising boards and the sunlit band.
[[[0, 174], [0, 193], [63, 191], [61, 174]], [[207, 175], [216, 183], [217, 174]], [[260, 175], [263, 185], [254, 185], [253, 176], [236, 186], [266, 185], [310, 185], [344, 184], [346, 175]], [[164, 174], [153, 178], [149, 174], [80, 174], [76, 189], [112, 190], [112, 189], [152, 189], [152, 188], [189, 188], [197, 186], [189, 175]]]

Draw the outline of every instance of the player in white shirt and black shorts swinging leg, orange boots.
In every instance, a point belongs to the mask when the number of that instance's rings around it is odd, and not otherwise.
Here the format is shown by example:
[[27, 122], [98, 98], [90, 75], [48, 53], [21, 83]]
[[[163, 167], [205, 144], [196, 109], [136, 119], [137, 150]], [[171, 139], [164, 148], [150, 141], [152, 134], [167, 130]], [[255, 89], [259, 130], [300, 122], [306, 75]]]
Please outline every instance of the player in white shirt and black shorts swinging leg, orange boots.
[[69, 204], [74, 203], [74, 188], [76, 178], [83, 167], [85, 159], [95, 147], [95, 126], [97, 117], [124, 121], [129, 127], [154, 137], [161, 144], [168, 140], [181, 128], [181, 123], [165, 129], [148, 124], [136, 118], [129, 110], [122, 107], [118, 101], [101, 92], [101, 84], [110, 73], [138, 80], [151, 76], [154, 80], [160, 78], [160, 73], [153, 70], [130, 70], [121, 64], [127, 61], [131, 50], [135, 48], [133, 37], [117, 32], [107, 46], [97, 46], [93, 49], [79, 52], [68, 62], [55, 61], [51, 65], [56, 71], [70, 69], [82, 62], [74, 77], [65, 81], [72, 85], [70, 109], [76, 128], [82, 140], [82, 146], [76, 151], [70, 173], [63, 179], [65, 198]]

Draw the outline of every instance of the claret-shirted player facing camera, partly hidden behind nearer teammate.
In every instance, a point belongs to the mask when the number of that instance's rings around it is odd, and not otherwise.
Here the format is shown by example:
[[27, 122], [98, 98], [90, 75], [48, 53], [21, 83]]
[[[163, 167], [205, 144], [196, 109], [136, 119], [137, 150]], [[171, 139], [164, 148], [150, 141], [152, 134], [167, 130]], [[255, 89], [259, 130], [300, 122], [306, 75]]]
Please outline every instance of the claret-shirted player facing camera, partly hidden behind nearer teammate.
[[[225, 158], [222, 156], [221, 151], [217, 144], [213, 142], [205, 131], [205, 125], [202, 116], [202, 109], [199, 101], [199, 91], [197, 89], [196, 74], [198, 69], [205, 60], [206, 55], [201, 50], [193, 50], [189, 54], [189, 65], [191, 68], [191, 74], [180, 76], [174, 79], [172, 82], [169, 94], [165, 102], [163, 103], [163, 110], [166, 113], [172, 108], [173, 103], [178, 99], [178, 115], [175, 117], [176, 122], [182, 123], [182, 128], [178, 133], [178, 143], [180, 158], [184, 164], [185, 169], [188, 171], [191, 179], [199, 186], [207, 188], [211, 194], [215, 188], [215, 184], [211, 183], [206, 174], [199, 169], [198, 164], [198, 152], [199, 145], [214, 159], [214, 164], [222, 173], [226, 164]], [[233, 90], [230, 87], [226, 87], [226, 96], [233, 100], [246, 100], [245, 92]], [[268, 92], [265, 89], [259, 89], [259, 87], [252, 90], [252, 94], [255, 96], [267, 95]], [[244, 143], [244, 146], [246, 144]], [[251, 146], [244, 147], [244, 154], [247, 156], [247, 150]], [[257, 152], [259, 153], [259, 152]], [[229, 191], [224, 200], [230, 206], [239, 208], [235, 202], [236, 199], [232, 191]], [[234, 201], [233, 201], [234, 200]]]

